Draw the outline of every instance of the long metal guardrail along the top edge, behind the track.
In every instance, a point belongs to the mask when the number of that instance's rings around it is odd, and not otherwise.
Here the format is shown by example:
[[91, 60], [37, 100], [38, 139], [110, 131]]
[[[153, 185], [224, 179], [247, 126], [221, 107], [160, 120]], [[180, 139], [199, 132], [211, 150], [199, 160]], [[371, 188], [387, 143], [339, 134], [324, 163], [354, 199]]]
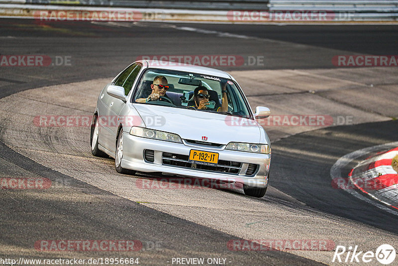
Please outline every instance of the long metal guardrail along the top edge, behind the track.
[[109, 7], [137, 8], [143, 14], [154, 13], [169, 21], [398, 22], [398, 0], [0, 0], [0, 16], [31, 17], [35, 14], [30, 10], [43, 8]]

